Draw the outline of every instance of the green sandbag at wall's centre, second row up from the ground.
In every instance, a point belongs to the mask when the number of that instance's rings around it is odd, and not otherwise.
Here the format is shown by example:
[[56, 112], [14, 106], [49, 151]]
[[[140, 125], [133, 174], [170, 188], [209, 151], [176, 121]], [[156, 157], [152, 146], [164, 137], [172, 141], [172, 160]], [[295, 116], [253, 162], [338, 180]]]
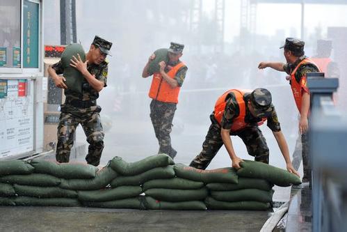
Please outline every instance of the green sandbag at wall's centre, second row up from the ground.
[[150, 189], [145, 191], [145, 194], [160, 201], [176, 202], [204, 200], [209, 192], [203, 187], [200, 190]]

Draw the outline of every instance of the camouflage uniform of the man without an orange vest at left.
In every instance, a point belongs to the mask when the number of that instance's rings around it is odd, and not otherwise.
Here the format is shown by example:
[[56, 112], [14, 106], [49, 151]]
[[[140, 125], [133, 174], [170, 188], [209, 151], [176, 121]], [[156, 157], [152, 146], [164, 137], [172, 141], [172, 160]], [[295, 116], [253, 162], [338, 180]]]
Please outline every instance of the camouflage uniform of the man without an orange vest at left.
[[[97, 38], [95, 36], [95, 39]], [[94, 42], [95, 40], [93, 44]], [[56, 71], [56, 74], [63, 74], [61, 61], [52, 65], [51, 68]], [[96, 79], [104, 82], [105, 87], [107, 86], [108, 63], [106, 61], [99, 65], [88, 64], [87, 69], [90, 74], [95, 75]], [[76, 127], [81, 124], [89, 144], [86, 161], [94, 166], [99, 165], [104, 149], [104, 132], [99, 115], [102, 108], [97, 105], [97, 98], [99, 98], [99, 93], [90, 86], [86, 79], [83, 80], [82, 93], [65, 89], [65, 103], [61, 105], [57, 133], [56, 160], [58, 162], [69, 162], [70, 150], [74, 144], [74, 133]]]

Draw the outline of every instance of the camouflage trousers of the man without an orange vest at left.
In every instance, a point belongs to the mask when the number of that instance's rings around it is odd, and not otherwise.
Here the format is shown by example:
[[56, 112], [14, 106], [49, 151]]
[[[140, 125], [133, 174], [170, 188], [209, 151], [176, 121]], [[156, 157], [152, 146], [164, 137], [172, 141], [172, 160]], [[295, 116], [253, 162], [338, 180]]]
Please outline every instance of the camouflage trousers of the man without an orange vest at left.
[[76, 127], [81, 124], [89, 144], [86, 161], [94, 166], [99, 165], [102, 150], [104, 149], [104, 132], [99, 115], [101, 108], [92, 111], [89, 110], [90, 108], [70, 111], [69, 113], [62, 110], [58, 124], [56, 161], [60, 163], [69, 162]]

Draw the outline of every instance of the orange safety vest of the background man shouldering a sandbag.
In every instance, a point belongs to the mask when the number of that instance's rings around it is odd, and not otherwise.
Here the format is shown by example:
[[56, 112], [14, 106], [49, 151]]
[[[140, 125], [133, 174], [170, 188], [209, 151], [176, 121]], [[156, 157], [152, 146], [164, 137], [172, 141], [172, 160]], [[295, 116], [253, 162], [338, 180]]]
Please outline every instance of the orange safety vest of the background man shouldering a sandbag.
[[[179, 68], [184, 67], [183, 62], [177, 63], [172, 69], [166, 74], [174, 79]], [[150, 88], [150, 93], [148, 95], [154, 100], [159, 100], [161, 102], [173, 102], [178, 103], [178, 95], [181, 87], [177, 86], [172, 88], [168, 82], [163, 80], [159, 72], [153, 74], [152, 85]]]

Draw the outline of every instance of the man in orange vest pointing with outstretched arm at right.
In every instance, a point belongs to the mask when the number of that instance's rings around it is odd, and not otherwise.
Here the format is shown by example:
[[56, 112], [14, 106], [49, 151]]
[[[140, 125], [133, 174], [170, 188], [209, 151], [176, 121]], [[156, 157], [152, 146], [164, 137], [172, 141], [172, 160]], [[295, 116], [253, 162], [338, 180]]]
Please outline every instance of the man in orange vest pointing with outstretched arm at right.
[[284, 57], [287, 63], [281, 62], [261, 62], [258, 65], [259, 69], [273, 68], [277, 71], [287, 72], [289, 75], [289, 84], [293, 92], [296, 107], [300, 113], [299, 130], [302, 142], [302, 164], [304, 176], [302, 182], [311, 180], [311, 167], [309, 162], [308, 152], [308, 114], [309, 114], [309, 89], [307, 88], [306, 73], [319, 72], [318, 66], [314, 61], [308, 59], [304, 52], [305, 42], [297, 38], [286, 38], [285, 44], [280, 47], [284, 48]]

